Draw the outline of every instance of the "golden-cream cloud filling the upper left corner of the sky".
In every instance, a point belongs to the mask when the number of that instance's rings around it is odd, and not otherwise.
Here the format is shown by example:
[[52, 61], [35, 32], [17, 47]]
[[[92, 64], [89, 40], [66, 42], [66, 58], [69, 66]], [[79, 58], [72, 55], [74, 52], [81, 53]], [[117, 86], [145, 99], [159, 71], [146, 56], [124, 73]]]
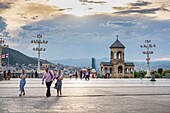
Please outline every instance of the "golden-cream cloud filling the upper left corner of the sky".
[[[1, 1], [0, 1], [1, 2]], [[21, 26], [37, 22], [40, 20], [50, 19], [61, 14], [61, 9], [51, 6], [46, 0], [7, 0], [11, 5], [9, 8], [1, 11], [2, 16], [7, 23], [6, 30], [12, 37], [17, 37]]]

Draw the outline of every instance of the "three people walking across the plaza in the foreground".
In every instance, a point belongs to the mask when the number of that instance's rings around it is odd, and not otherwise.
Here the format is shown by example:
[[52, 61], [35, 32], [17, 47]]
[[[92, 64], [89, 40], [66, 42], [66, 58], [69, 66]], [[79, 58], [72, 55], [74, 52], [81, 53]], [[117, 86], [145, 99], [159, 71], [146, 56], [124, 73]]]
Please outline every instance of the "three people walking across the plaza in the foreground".
[[[24, 90], [24, 86], [26, 84], [26, 74], [25, 71], [22, 70], [22, 74], [20, 76], [20, 94], [19, 96], [25, 95], [25, 90]], [[58, 70], [58, 73], [56, 76], [54, 76], [54, 73], [52, 73], [51, 71], [48, 70], [48, 68], [45, 69], [45, 72], [43, 74], [42, 77], [42, 84], [46, 84], [47, 87], [47, 91], [46, 91], [46, 97], [50, 97], [51, 96], [51, 92], [50, 92], [50, 87], [51, 84], [54, 80], [57, 80], [54, 86], [54, 89], [57, 90], [57, 97], [62, 95], [62, 80], [63, 80], [63, 75], [61, 74], [61, 71]]]

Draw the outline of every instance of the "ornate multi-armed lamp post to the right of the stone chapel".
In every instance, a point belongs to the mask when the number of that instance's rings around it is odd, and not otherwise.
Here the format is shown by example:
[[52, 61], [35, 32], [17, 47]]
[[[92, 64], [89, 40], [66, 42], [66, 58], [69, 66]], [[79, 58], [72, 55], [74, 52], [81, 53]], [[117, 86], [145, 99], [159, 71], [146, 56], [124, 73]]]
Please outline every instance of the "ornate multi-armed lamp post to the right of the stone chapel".
[[143, 54], [147, 55], [147, 57], [146, 57], [146, 61], [147, 61], [147, 74], [145, 75], [145, 77], [151, 77], [151, 75], [150, 75], [150, 62], [149, 62], [150, 58], [149, 58], [149, 55], [153, 54], [153, 51], [149, 51], [149, 48], [156, 47], [155, 44], [150, 44], [150, 42], [151, 42], [151, 40], [145, 40], [145, 44], [140, 46], [141, 48], [146, 48], [146, 51], [143, 51]]

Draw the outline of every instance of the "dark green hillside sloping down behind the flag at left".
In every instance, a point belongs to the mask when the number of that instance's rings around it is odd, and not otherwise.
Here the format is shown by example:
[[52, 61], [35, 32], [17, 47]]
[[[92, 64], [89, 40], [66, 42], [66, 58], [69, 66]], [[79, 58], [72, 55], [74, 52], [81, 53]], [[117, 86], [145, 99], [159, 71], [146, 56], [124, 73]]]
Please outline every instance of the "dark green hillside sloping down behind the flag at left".
[[[9, 53], [9, 63], [10, 65], [15, 65], [16, 63], [19, 64], [37, 64], [37, 58], [32, 58], [27, 55], [24, 55], [23, 53], [10, 49], [10, 48], [3, 48], [2, 49], [2, 54], [7, 54]], [[40, 63], [42, 62], [47, 62], [45, 60], [41, 60]], [[8, 58], [4, 58], [2, 61], [3, 64], [8, 63]]]

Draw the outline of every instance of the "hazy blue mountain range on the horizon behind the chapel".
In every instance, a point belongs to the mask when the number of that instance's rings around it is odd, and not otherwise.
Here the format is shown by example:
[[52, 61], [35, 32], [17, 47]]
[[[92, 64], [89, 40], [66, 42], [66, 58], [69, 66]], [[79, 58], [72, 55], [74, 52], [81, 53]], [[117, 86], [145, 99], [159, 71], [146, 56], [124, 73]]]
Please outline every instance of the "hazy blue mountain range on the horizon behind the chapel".
[[[101, 58], [101, 59], [96, 59], [96, 67], [100, 67], [101, 62], [108, 62], [110, 61], [109, 58]], [[62, 60], [51, 60], [53, 63], [60, 63], [64, 65], [69, 65], [69, 66], [77, 66], [77, 67], [91, 67], [91, 58], [81, 58], [81, 59], [62, 59]], [[140, 61], [134, 61], [135, 64], [135, 70], [146, 70], [147, 64], [145, 61], [140, 62]], [[163, 68], [164, 70], [170, 69], [170, 61], [151, 61], [150, 62], [150, 67], [151, 70], [157, 70], [158, 68]]]

